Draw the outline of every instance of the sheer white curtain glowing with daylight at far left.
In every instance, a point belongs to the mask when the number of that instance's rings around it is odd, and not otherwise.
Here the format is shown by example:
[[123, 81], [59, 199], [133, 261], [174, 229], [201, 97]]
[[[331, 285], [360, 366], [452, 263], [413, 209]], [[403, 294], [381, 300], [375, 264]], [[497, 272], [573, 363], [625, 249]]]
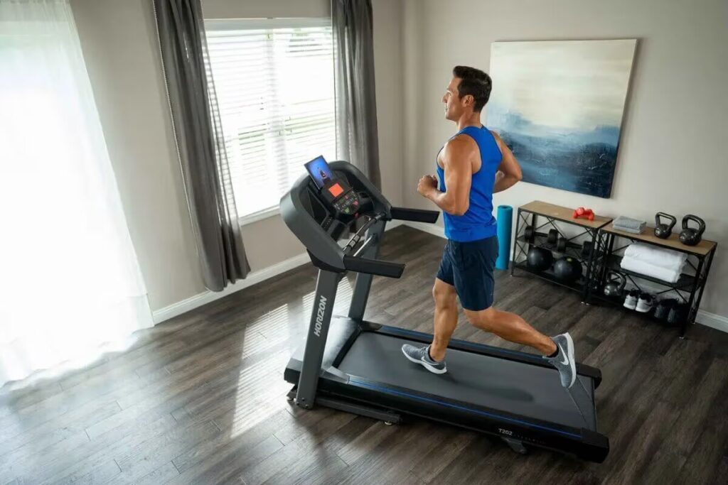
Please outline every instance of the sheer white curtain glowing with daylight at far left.
[[0, 386], [151, 324], [68, 0], [0, 0]]

